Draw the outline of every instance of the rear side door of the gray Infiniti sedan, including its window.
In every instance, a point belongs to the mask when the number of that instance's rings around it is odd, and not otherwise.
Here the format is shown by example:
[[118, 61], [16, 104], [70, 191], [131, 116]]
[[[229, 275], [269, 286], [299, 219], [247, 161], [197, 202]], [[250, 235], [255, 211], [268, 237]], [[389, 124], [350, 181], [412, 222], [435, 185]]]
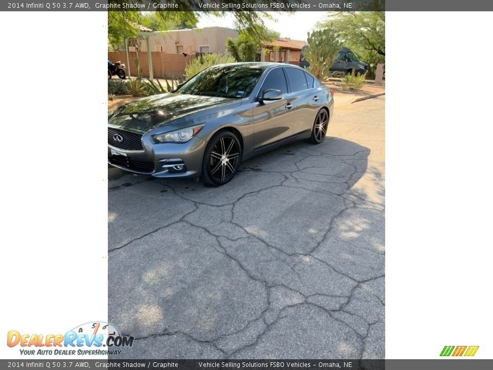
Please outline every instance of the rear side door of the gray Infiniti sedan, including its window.
[[[317, 109], [315, 103], [320, 98], [313, 89], [314, 79], [309, 73], [299, 68], [285, 67], [285, 70], [290, 87], [288, 96], [293, 99], [291, 102], [294, 111], [293, 134], [308, 132], [312, 129], [316, 113], [314, 110]], [[310, 86], [305, 75], [310, 77]]]

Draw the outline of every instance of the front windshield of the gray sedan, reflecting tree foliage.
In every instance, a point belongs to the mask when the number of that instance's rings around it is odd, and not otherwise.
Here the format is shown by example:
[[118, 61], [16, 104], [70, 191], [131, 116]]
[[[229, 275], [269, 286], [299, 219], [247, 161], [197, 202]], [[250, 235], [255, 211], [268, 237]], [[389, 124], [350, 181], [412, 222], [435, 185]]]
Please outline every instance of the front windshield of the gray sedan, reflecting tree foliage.
[[222, 65], [204, 69], [185, 82], [175, 93], [221, 98], [250, 95], [263, 68], [255, 65]]

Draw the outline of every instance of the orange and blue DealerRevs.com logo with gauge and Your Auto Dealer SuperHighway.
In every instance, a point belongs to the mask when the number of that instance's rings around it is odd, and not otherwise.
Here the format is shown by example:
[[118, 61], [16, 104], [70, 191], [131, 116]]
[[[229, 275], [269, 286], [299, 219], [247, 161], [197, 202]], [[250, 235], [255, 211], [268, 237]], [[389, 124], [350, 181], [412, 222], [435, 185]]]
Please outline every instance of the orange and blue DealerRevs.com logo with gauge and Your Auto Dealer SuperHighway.
[[134, 337], [123, 336], [111, 324], [88, 322], [65, 334], [7, 333], [7, 345], [19, 346], [21, 355], [119, 355], [122, 347], [131, 347]]

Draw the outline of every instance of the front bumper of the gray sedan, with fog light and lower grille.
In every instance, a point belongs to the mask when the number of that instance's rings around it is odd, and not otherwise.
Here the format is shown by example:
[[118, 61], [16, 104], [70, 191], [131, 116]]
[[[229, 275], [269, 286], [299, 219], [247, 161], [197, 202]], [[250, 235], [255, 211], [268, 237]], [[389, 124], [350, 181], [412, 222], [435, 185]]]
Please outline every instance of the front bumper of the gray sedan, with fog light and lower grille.
[[[143, 151], [127, 151], [108, 144], [108, 163], [119, 169], [155, 177], [199, 177], [206, 142], [194, 137], [184, 143], [146, 143]], [[114, 153], [122, 153], [115, 155]], [[180, 165], [183, 168], [180, 170]]]

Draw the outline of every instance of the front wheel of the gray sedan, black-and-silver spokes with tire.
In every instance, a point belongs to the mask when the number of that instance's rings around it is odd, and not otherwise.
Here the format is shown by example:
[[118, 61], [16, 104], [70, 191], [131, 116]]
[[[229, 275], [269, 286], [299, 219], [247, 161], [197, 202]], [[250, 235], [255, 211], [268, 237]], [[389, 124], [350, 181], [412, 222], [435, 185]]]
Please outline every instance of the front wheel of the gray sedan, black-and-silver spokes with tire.
[[202, 160], [201, 180], [220, 186], [235, 177], [241, 161], [241, 144], [231, 131], [220, 131], [209, 140]]

